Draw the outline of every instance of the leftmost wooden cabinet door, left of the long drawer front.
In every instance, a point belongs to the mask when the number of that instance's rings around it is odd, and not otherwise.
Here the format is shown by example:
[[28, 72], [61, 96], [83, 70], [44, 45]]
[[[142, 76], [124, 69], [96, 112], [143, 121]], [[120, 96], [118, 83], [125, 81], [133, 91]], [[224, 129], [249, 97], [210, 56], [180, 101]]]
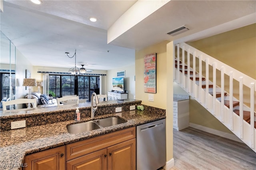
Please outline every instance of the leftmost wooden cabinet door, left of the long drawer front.
[[24, 170], [65, 170], [65, 146], [25, 156]]

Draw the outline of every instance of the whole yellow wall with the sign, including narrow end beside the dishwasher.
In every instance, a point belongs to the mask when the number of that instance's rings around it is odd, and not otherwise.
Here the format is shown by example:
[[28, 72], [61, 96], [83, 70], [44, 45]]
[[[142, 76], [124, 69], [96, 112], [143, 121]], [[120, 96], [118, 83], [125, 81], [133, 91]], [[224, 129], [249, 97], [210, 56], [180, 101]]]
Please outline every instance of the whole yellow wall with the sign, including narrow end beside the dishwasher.
[[[144, 56], [157, 53], [156, 94], [144, 92]], [[135, 53], [135, 98], [142, 104], [166, 109], [166, 160], [173, 158], [173, 43], [161, 43], [138, 50]], [[154, 95], [154, 102], [148, 101]]]

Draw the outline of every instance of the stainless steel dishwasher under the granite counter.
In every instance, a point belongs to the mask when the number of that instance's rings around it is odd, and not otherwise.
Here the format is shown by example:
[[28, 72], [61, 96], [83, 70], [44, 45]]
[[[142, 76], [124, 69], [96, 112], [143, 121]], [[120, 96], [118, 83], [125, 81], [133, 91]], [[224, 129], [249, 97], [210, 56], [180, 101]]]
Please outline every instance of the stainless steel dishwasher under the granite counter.
[[137, 126], [137, 170], [157, 170], [166, 164], [165, 127], [165, 119]]

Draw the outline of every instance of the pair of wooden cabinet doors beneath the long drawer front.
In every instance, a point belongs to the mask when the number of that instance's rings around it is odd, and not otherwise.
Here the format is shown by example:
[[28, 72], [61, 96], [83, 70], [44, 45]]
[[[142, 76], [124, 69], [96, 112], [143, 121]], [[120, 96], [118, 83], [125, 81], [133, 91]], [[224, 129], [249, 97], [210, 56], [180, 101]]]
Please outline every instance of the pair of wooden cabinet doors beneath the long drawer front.
[[122, 169], [136, 169], [136, 139], [67, 161], [67, 170]]

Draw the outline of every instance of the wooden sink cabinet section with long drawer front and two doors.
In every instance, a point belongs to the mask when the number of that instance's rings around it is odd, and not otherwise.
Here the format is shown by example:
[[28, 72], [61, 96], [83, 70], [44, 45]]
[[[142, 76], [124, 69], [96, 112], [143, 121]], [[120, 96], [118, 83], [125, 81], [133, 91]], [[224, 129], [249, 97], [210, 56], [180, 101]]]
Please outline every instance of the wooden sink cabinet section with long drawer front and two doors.
[[66, 145], [67, 170], [135, 170], [136, 128]]

